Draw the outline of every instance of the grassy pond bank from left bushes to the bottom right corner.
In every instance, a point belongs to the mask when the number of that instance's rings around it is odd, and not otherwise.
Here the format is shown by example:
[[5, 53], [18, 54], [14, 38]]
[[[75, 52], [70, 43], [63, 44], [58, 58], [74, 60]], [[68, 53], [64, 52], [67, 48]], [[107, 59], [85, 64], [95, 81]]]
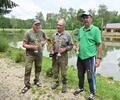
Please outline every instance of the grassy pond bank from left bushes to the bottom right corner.
[[[6, 53], [0, 53], [0, 55], [7, 56], [16, 61], [17, 56], [20, 56], [21, 53], [24, 53], [24, 51], [10, 48]], [[25, 60], [21, 61], [24, 63]], [[50, 71], [51, 63], [51, 58], [43, 58], [43, 73]], [[51, 77], [49, 77], [49, 79], [51, 79]], [[78, 87], [77, 69], [75, 67], [68, 67], [68, 87], [72, 89], [76, 89]], [[82, 95], [86, 98], [89, 95], [87, 78], [85, 78], [85, 91]], [[97, 91], [95, 100], [120, 100], [120, 82], [97, 75]]]

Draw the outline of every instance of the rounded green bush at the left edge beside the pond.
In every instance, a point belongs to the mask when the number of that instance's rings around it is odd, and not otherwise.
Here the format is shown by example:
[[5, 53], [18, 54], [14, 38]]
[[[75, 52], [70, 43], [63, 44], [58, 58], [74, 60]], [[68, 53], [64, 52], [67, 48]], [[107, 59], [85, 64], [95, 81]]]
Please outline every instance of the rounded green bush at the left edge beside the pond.
[[6, 38], [0, 37], [0, 52], [7, 51], [8, 47], [8, 40]]

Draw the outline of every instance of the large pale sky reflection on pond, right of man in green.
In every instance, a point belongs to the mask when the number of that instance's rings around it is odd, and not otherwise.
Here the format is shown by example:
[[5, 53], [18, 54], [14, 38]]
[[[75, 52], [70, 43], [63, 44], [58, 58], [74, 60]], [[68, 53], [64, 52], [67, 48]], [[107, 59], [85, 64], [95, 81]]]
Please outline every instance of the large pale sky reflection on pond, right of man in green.
[[114, 80], [120, 80], [120, 49], [113, 49], [108, 51], [106, 56], [102, 59], [101, 65], [97, 68], [97, 73], [103, 76], [113, 77]]

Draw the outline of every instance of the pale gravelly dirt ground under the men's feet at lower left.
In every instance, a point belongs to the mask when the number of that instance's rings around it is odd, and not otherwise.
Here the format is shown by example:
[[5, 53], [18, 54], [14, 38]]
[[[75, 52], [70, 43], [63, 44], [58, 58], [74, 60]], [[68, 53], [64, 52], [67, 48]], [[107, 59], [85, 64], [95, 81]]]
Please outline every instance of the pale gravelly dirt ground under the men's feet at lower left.
[[[31, 75], [31, 83], [34, 73]], [[32, 88], [26, 93], [21, 94], [24, 87], [24, 65], [16, 64], [8, 58], [0, 58], [0, 100], [85, 100], [84, 97], [74, 96], [74, 90], [61, 93], [61, 87], [52, 91], [51, 80], [45, 75], [41, 75], [43, 86]]]

